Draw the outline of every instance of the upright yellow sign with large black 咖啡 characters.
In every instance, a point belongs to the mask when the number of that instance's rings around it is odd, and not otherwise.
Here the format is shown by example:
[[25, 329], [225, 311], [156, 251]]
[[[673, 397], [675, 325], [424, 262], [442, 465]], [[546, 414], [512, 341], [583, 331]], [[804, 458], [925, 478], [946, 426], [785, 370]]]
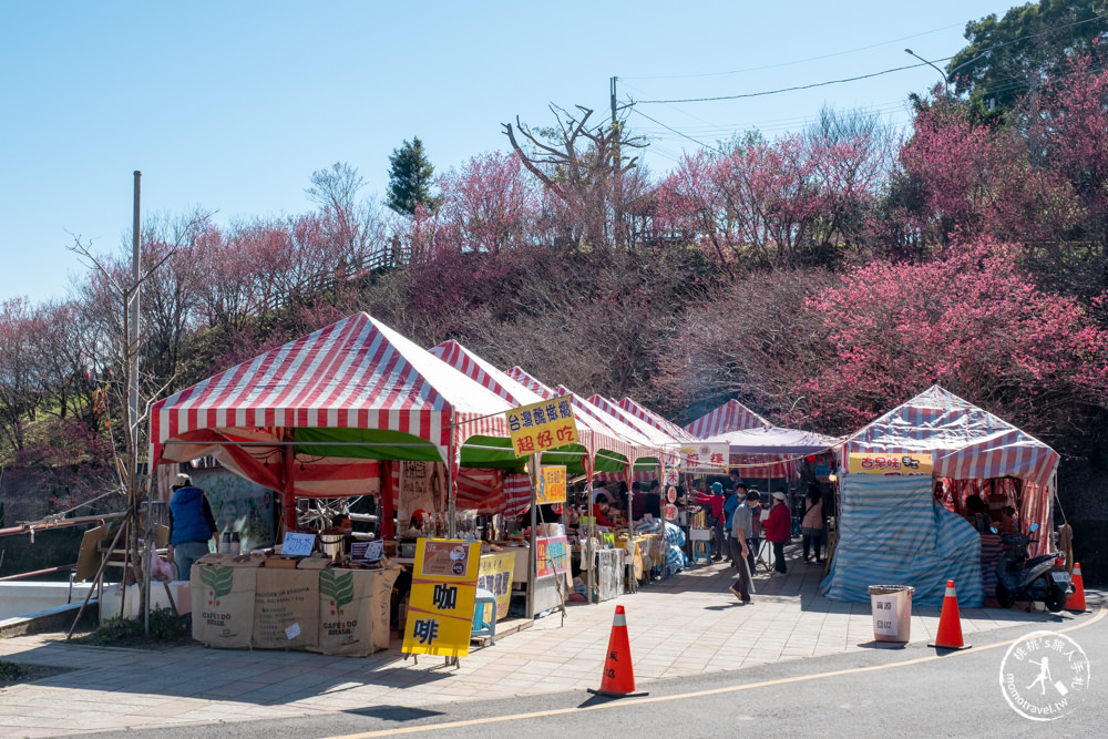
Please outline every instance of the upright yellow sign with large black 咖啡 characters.
[[421, 538], [416, 547], [403, 651], [465, 657], [473, 632], [481, 544]]

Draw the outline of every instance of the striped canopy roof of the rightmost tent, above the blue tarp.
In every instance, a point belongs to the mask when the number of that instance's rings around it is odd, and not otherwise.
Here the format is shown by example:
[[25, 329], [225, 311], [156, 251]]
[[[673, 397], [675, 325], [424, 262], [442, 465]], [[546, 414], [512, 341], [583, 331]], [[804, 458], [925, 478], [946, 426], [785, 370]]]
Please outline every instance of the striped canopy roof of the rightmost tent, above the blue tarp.
[[[854, 432], [840, 452], [842, 470], [851, 452], [930, 453], [934, 476], [955, 482], [1016, 478], [1023, 481], [1025, 528], [1038, 523], [1051, 530], [1058, 453], [937, 384]], [[1048, 547], [1048, 537], [1039, 537], [1037, 548]]]

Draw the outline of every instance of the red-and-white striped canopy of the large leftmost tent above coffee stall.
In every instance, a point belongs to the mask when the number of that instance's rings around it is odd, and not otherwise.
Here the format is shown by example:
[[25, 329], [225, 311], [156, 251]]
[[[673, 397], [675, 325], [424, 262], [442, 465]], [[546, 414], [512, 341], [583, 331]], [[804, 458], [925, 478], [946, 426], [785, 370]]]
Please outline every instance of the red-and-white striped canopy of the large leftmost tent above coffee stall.
[[511, 407], [356, 314], [158, 401], [151, 466], [214, 455], [288, 502], [372, 492], [375, 460], [442, 461], [453, 489], [471, 437], [514, 459]]

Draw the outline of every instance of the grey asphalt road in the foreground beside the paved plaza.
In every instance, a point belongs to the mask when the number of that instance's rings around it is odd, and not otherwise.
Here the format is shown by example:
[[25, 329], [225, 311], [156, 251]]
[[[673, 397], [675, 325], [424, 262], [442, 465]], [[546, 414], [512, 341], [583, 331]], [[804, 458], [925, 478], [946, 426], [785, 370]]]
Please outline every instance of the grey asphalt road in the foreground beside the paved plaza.
[[[1058, 632], [1088, 657], [1088, 682], [1058, 685], [1064, 649], [1051, 655], [1050, 688], [1025, 684], [1037, 677], [1016, 649], [1032, 649], [1024, 627], [975, 636], [971, 649], [936, 654], [920, 646], [875, 647], [858, 654], [803, 659], [679, 680], [652, 682], [649, 696], [611, 700], [583, 692], [561, 692], [504, 700], [443, 704], [425, 709], [367, 707], [287, 721], [217, 723], [120, 732], [131, 738], [239, 737], [763, 737], [944, 736], [1067, 737], [1104, 736], [1108, 726], [1108, 612]], [[1045, 627], [1050, 629], [1049, 626]], [[1059, 640], [1059, 647], [1060, 640]], [[1005, 656], [1012, 656], [1005, 661]], [[1065, 647], [1065, 649], [1070, 649]], [[1070, 654], [1073, 650], [1070, 649]], [[1080, 653], [1077, 654], [1080, 656]], [[1073, 659], [1076, 659], [1073, 658]], [[1002, 664], [1005, 671], [1002, 671]], [[1016, 665], [1013, 667], [1013, 665]], [[1023, 674], [1017, 671], [1023, 669]], [[1036, 670], [1038, 668], [1035, 668]], [[1004, 674], [1016, 673], [1018, 698], [1045, 700], [1063, 715], [1030, 720], [1004, 697]], [[1079, 675], [1079, 674], [1078, 674]], [[597, 675], [597, 682], [599, 675]], [[1012, 685], [1015, 685], [1015, 682]], [[1061, 692], [1058, 692], [1061, 691]], [[1057, 694], [1057, 695], [1056, 695]], [[1065, 695], [1065, 705], [1060, 696]], [[1030, 709], [1027, 709], [1030, 710]], [[98, 737], [115, 736], [98, 733]]]

